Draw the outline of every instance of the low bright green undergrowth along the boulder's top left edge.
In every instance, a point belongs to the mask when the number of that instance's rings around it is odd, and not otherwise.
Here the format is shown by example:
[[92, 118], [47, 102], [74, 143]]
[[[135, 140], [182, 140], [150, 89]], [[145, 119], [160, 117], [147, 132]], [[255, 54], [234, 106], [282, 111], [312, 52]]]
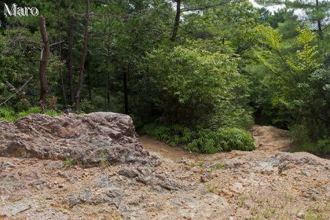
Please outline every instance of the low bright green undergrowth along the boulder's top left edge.
[[[15, 121], [19, 120], [20, 118], [24, 118], [25, 116], [28, 116], [32, 113], [41, 113], [41, 108], [40, 107], [31, 107], [28, 110], [14, 112], [14, 110], [12, 110], [10, 108], [0, 107], [0, 120], [15, 122]], [[52, 109], [45, 111], [44, 114], [50, 115], [50, 116], [61, 115], [61, 113], [58, 113], [57, 111], [52, 110]]]

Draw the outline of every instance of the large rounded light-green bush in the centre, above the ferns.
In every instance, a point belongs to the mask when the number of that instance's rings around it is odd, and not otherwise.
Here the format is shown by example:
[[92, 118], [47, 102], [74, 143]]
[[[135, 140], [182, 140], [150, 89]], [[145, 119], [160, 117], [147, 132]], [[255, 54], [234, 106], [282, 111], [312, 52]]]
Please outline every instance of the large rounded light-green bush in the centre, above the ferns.
[[239, 73], [239, 58], [193, 44], [147, 56], [145, 65], [159, 100], [155, 104], [166, 121], [192, 127], [250, 121], [244, 109], [248, 82]]

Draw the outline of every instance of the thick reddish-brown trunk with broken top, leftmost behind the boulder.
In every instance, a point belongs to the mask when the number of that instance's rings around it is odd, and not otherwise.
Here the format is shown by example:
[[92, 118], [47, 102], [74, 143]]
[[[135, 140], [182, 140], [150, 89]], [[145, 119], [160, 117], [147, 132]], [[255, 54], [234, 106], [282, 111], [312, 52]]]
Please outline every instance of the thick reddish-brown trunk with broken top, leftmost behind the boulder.
[[40, 101], [41, 108], [45, 110], [46, 100], [47, 100], [47, 78], [46, 78], [46, 67], [48, 59], [50, 58], [50, 43], [48, 42], [47, 30], [45, 18], [40, 18], [40, 30], [41, 39], [43, 39], [43, 50], [41, 50], [41, 60], [39, 64], [39, 78], [40, 78]]

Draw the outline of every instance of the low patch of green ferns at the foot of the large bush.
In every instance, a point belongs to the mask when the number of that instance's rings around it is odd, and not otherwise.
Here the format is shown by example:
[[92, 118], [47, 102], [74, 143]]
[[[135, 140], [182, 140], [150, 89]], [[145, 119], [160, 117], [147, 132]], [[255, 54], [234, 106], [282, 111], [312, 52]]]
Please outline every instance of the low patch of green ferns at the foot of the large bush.
[[253, 151], [255, 149], [252, 135], [237, 128], [192, 131], [178, 124], [162, 126], [153, 123], [144, 126], [142, 133], [166, 142], [170, 146], [181, 146], [187, 151], [199, 153], [210, 154], [232, 150]]

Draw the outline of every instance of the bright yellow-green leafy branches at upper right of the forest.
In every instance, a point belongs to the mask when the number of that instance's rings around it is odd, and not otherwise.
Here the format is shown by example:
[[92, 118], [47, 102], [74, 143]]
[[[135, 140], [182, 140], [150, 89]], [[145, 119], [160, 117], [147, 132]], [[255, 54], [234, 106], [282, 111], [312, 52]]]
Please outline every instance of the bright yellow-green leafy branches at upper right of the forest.
[[296, 30], [299, 35], [296, 37], [296, 45], [292, 46], [298, 49], [303, 45], [303, 48], [296, 50], [293, 56], [285, 54], [287, 49], [283, 46], [282, 36], [278, 30], [264, 25], [256, 27], [256, 32], [260, 35], [259, 42], [271, 49], [264, 52], [257, 51], [256, 56], [270, 72], [294, 84], [306, 82], [308, 75], [320, 66], [316, 60], [318, 47], [313, 45], [315, 34], [308, 28], [296, 28]]

